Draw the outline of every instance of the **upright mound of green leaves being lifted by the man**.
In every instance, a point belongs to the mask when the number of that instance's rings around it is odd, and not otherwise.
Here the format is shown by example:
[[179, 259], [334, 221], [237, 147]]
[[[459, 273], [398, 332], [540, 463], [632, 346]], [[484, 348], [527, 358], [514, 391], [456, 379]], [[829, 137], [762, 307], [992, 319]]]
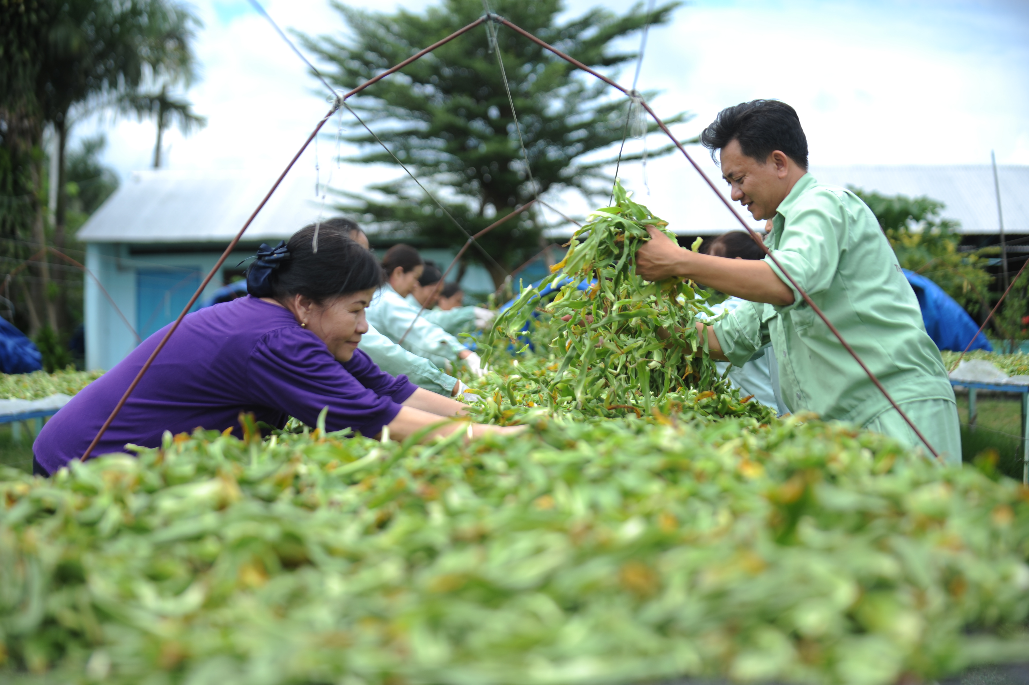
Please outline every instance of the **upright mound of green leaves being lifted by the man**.
[[[752, 407], [753, 415], [768, 418], [764, 408], [745, 406], [730, 390], [708, 356], [707, 337], [702, 340], [696, 329], [712, 315], [708, 295], [690, 282], [651, 283], [634, 273], [636, 250], [650, 239], [645, 227], [666, 230], [667, 221], [633, 202], [620, 184], [614, 197], [613, 207], [593, 212], [575, 232], [554, 273], [538, 288], [524, 288], [501, 312], [485, 336], [484, 359], [493, 363], [502, 356], [495, 353], [502, 345], [519, 345], [526, 324], [539, 324], [539, 290], [570, 279], [541, 312], [549, 340], [536, 347], [557, 354], [557, 363], [534, 379], [533, 402], [552, 411], [616, 416], [713, 399], [721, 415], [750, 413]], [[583, 281], [592, 285], [578, 289]]]

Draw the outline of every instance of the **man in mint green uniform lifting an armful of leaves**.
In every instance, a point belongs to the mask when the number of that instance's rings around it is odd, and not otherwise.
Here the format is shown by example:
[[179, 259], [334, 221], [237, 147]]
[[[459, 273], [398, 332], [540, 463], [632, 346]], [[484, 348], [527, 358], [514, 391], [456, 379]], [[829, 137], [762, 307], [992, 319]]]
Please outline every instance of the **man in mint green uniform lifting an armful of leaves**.
[[[872, 210], [850, 191], [807, 172], [808, 144], [789, 105], [755, 100], [722, 110], [701, 135], [720, 150], [733, 200], [772, 219], [766, 245], [879, 378], [941, 458], [961, 464], [954, 391], [922, 322], [914, 290]], [[705, 331], [712, 356], [746, 363], [771, 343], [782, 397], [920, 447], [873, 384], [772, 260], [723, 260], [684, 250], [651, 230], [637, 254], [649, 280], [689, 278], [748, 302]]]

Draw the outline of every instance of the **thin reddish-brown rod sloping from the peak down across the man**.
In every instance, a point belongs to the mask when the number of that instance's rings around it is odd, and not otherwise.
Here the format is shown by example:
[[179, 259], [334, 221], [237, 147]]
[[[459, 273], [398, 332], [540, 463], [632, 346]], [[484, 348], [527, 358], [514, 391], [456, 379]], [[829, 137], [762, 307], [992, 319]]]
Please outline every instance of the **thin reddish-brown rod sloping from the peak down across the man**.
[[[546, 41], [542, 40], [541, 38], [538, 38], [538, 37], [534, 36], [533, 34], [529, 33], [528, 31], [526, 31], [525, 29], [523, 29], [522, 27], [520, 27], [520, 26], [518, 26], [516, 24], [512, 24], [512, 23], [508, 22], [507, 20], [505, 20], [503, 18], [498, 18], [497, 21], [499, 21], [501, 24], [503, 24], [504, 26], [508, 27], [509, 29], [516, 31], [517, 33], [522, 34], [523, 36], [525, 36], [526, 38], [528, 38], [529, 40], [531, 40], [534, 43], [540, 45], [541, 47], [544, 47], [544, 48], [551, 50], [552, 53], [554, 53], [558, 57], [562, 58], [563, 60], [569, 62], [570, 64], [575, 65], [576, 67], [578, 67], [582, 71], [584, 71], [584, 72], [587, 72], [589, 74], [594, 75], [595, 77], [597, 77], [600, 80], [604, 81], [605, 83], [607, 83], [611, 88], [614, 88], [614, 89], [616, 89], [618, 91], [622, 91], [626, 95], [629, 95], [629, 91], [627, 91], [624, 85], [620, 85], [617, 82], [615, 82], [614, 80], [612, 80], [612, 79], [608, 78], [607, 76], [599, 73], [598, 71], [596, 71], [594, 69], [591, 69], [590, 67], [588, 67], [584, 64], [582, 64], [581, 62], [579, 62], [575, 58], [570, 57], [568, 55], [565, 55], [564, 53], [562, 53], [561, 50], [559, 50], [557, 47], [551, 45], [549, 43], [547, 43]], [[858, 355], [858, 353], [856, 351], [854, 351], [854, 348], [850, 346], [850, 343], [848, 343], [847, 340], [843, 337], [843, 334], [841, 334], [840, 331], [835, 326], [832, 326], [832, 322], [828, 319], [828, 317], [821, 310], [821, 308], [818, 307], [818, 305], [815, 304], [815, 302], [811, 299], [811, 296], [808, 295], [807, 290], [805, 290], [804, 288], [802, 288], [801, 285], [796, 282], [796, 280], [789, 274], [789, 272], [786, 271], [785, 269], [783, 269], [782, 265], [779, 263], [779, 260], [776, 258], [775, 253], [773, 253], [768, 248], [768, 246], [765, 245], [765, 243], [761, 240], [758, 239], [757, 233], [752, 228], [750, 228], [750, 226], [743, 219], [742, 216], [740, 216], [740, 213], [737, 212], [736, 208], [732, 205], [732, 203], [729, 200], [725, 199], [725, 196], [723, 196], [721, 193], [718, 192], [718, 189], [715, 187], [715, 184], [711, 181], [710, 178], [707, 177], [707, 174], [704, 173], [704, 171], [700, 168], [700, 165], [697, 164], [697, 162], [694, 160], [694, 158], [689, 156], [689, 152], [687, 152], [686, 148], [682, 146], [682, 143], [680, 143], [675, 138], [675, 136], [672, 134], [672, 132], [668, 129], [668, 127], [665, 125], [665, 123], [661, 119], [661, 117], [659, 117], [658, 114], [654, 113], [653, 109], [650, 108], [650, 105], [648, 105], [646, 103], [646, 101], [642, 101], [640, 104], [643, 106], [644, 109], [646, 109], [647, 113], [650, 114], [650, 116], [653, 118], [653, 121], [658, 124], [658, 128], [660, 128], [662, 130], [662, 132], [664, 132], [665, 135], [667, 135], [672, 140], [672, 142], [675, 144], [675, 146], [679, 148], [679, 151], [682, 152], [683, 157], [686, 158], [686, 161], [689, 162], [690, 166], [693, 166], [694, 169], [697, 171], [697, 173], [699, 173], [701, 175], [701, 178], [704, 179], [704, 181], [708, 184], [708, 186], [711, 189], [711, 191], [714, 192], [714, 194], [716, 196], [718, 196], [718, 199], [721, 200], [722, 204], [725, 205], [725, 208], [729, 209], [729, 211], [733, 213], [733, 216], [736, 217], [736, 219], [740, 222], [740, 225], [743, 227], [743, 229], [750, 235], [751, 238], [754, 239], [755, 242], [757, 242], [757, 244], [760, 246], [760, 248], [765, 252], [765, 254], [767, 254], [768, 258], [770, 260], [772, 260], [772, 263], [775, 264], [779, 268], [779, 271], [782, 273], [782, 275], [784, 275], [786, 277], [786, 280], [788, 280], [790, 282], [790, 284], [793, 286], [793, 288], [801, 295], [801, 298], [805, 301], [805, 303], [809, 307], [811, 307], [811, 310], [814, 311], [815, 314], [818, 315], [818, 317], [822, 320], [822, 322], [825, 323], [826, 328], [828, 328], [828, 330], [832, 333], [832, 335], [836, 336], [837, 340], [840, 341], [840, 344], [843, 345], [844, 349], [846, 349], [847, 352], [852, 357], [854, 357], [854, 361], [857, 362], [857, 365], [859, 367], [861, 367], [861, 370], [864, 371], [865, 375], [868, 376], [868, 379], [872, 381], [872, 383], [879, 389], [880, 392], [883, 393], [883, 397], [886, 398], [886, 400], [890, 403], [890, 406], [893, 407], [893, 409], [897, 412], [897, 414], [900, 416], [900, 418], [902, 418], [904, 420], [904, 422], [908, 425], [911, 426], [911, 430], [915, 433], [915, 435], [918, 437], [918, 439], [921, 440], [922, 443], [929, 449], [929, 451], [932, 453], [932, 456], [934, 456], [938, 460], [939, 459], [939, 452], [937, 452], [935, 450], [935, 448], [933, 448], [932, 444], [928, 440], [925, 439], [925, 437], [922, 435], [922, 432], [918, 430], [918, 426], [915, 425], [915, 422], [911, 420], [911, 418], [908, 416], [908, 414], [906, 414], [904, 411], [902, 409], [900, 409], [900, 406], [893, 400], [893, 397], [889, 393], [889, 391], [887, 391], [886, 387], [882, 384], [882, 382], [880, 382], [879, 378], [877, 378], [876, 375], [874, 373], [872, 373], [872, 370], [868, 369], [867, 365], [864, 364], [864, 362], [861, 359], [860, 355]], [[1029, 264], [1029, 262], [1027, 262], [1026, 264]]]

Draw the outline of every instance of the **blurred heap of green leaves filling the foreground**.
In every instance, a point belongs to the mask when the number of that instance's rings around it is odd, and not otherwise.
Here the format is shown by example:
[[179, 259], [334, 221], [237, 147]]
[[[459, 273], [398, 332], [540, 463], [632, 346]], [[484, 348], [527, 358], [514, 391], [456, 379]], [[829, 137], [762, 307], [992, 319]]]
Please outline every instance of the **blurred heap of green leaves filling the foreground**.
[[1024, 658], [1029, 490], [791, 418], [0, 474], [0, 677], [886, 685]]

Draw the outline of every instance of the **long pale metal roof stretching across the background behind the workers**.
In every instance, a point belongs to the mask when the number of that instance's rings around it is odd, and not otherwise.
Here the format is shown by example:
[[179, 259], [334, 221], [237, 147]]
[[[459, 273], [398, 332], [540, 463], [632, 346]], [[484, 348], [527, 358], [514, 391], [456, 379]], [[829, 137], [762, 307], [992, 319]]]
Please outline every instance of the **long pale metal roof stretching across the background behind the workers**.
[[[314, 197], [313, 167], [310, 160], [297, 163], [247, 230], [246, 238], [288, 238], [318, 217], [320, 204]], [[720, 193], [728, 194], [717, 167], [705, 165], [704, 171]], [[278, 173], [137, 171], [86, 221], [78, 237], [85, 242], [224, 243], [250, 216]], [[687, 168], [655, 174], [652, 195], [637, 199], [666, 217], [679, 234], [718, 235], [739, 230], [739, 224], [711, 190], [691, 177], [694, 173]], [[814, 166], [811, 173], [819, 181], [833, 185], [854, 185], [884, 195], [925, 195], [946, 204], [943, 215], [960, 221], [962, 233], [997, 233], [996, 196], [989, 165]], [[1029, 234], [1029, 166], [1001, 166], [998, 176], [1006, 232]], [[342, 179], [333, 181], [335, 186], [342, 184]], [[734, 206], [750, 219], [739, 205]], [[327, 209], [325, 213], [330, 215], [332, 211]], [[748, 222], [754, 228], [764, 225]], [[565, 233], [570, 230], [553, 232], [555, 236]]]

